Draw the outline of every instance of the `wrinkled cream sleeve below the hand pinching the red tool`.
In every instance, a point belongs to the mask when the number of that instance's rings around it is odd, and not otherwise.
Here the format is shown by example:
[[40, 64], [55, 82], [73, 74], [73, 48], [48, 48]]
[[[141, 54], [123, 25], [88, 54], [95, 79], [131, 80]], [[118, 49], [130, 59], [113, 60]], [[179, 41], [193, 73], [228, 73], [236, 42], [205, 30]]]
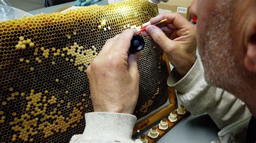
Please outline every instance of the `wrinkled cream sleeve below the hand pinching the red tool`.
[[199, 58], [183, 78], [174, 68], [167, 84], [177, 90], [178, 98], [188, 111], [193, 115], [207, 112], [220, 129], [251, 116], [244, 102], [206, 82]]

